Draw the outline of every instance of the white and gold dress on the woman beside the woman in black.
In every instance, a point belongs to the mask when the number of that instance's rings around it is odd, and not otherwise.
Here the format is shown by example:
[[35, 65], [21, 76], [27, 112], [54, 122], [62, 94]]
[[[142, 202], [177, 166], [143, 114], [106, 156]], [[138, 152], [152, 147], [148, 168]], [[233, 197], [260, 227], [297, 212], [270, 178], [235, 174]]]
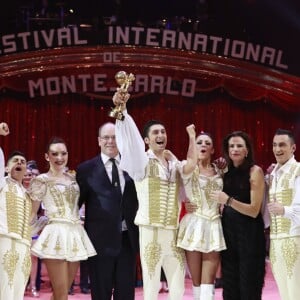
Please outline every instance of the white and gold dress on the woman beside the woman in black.
[[187, 198], [197, 204], [193, 213], [183, 216], [177, 238], [177, 246], [189, 251], [212, 252], [226, 249], [223, 236], [220, 205], [210, 199], [212, 191], [220, 191], [223, 180], [217, 168], [211, 177], [201, 175], [197, 167], [193, 173], [183, 176]]

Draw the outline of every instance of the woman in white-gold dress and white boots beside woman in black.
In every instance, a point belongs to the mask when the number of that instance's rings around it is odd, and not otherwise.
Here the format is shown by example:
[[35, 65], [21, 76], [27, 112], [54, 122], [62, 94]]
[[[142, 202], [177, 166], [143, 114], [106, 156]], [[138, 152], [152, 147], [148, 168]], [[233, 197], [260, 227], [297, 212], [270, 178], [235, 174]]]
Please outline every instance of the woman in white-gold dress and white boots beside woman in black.
[[[177, 246], [186, 253], [193, 282], [194, 300], [214, 299], [214, 282], [221, 250], [226, 249], [221, 225], [220, 205], [210, 193], [222, 191], [222, 171], [212, 163], [213, 141], [208, 133], [196, 138], [198, 163], [193, 172], [183, 175], [189, 205], [180, 222]], [[188, 207], [189, 206], [189, 207]]]

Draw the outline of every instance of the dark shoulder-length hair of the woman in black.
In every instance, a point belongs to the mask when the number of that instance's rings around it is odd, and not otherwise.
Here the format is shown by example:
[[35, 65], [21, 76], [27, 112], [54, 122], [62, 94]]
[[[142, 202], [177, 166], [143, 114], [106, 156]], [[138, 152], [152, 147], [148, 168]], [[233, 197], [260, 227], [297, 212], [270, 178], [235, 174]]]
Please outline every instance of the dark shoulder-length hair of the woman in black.
[[233, 166], [232, 160], [229, 157], [229, 140], [232, 137], [241, 137], [245, 141], [248, 154], [239, 168], [250, 170], [250, 168], [254, 165], [253, 146], [249, 135], [243, 131], [233, 131], [232, 133], [228, 134], [223, 140], [223, 155], [227, 161], [228, 167], [230, 168]]

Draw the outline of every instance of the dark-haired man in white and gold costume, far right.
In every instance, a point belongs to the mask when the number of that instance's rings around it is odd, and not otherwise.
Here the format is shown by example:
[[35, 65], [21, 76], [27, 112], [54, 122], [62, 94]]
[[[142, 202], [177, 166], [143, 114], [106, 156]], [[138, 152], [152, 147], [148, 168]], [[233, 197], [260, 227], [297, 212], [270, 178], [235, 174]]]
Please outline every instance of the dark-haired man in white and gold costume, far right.
[[270, 261], [280, 298], [300, 299], [300, 163], [295, 138], [278, 129], [273, 138], [276, 166], [270, 175]]

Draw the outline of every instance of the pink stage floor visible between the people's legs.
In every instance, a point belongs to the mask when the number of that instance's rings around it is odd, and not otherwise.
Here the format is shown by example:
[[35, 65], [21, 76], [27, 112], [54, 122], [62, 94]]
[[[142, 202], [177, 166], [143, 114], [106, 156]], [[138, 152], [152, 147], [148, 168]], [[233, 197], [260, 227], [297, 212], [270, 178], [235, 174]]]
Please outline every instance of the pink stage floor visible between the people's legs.
[[[50, 284], [49, 280], [47, 278], [47, 274], [44, 272], [43, 274], [43, 280], [45, 281], [42, 285], [42, 290], [40, 291], [40, 297], [35, 299], [42, 299], [42, 300], [49, 300], [51, 295], [50, 290]], [[76, 279], [76, 282], [78, 282], [78, 279]], [[191, 289], [192, 283], [190, 279], [186, 279], [186, 291], [184, 295], [184, 300], [192, 300], [192, 289]], [[79, 287], [75, 286], [75, 295], [70, 295], [70, 300], [88, 300], [91, 299], [90, 295], [84, 295], [80, 293]], [[34, 298], [30, 297], [29, 294], [26, 294], [24, 299], [26, 300], [32, 300]], [[136, 288], [136, 300], [142, 300], [143, 299], [143, 290], [142, 288]], [[168, 299], [168, 293], [159, 294], [158, 297], [159, 300], [167, 300]], [[222, 289], [216, 289], [216, 297], [215, 300], [221, 300], [222, 299]], [[278, 290], [276, 287], [276, 283], [274, 281], [273, 275], [270, 270], [269, 263], [267, 263], [267, 274], [265, 278], [265, 287], [263, 290], [263, 297], [262, 300], [280, 300]]]

